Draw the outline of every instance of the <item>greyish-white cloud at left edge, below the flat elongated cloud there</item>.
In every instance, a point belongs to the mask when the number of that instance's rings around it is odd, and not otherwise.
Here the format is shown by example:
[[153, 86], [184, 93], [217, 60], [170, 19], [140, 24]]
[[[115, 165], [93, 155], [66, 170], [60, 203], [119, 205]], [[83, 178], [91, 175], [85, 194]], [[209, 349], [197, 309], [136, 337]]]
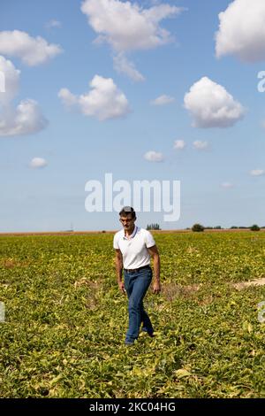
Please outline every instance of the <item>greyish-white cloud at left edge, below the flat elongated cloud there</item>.
[[4, 73], [6, 90], [0, 94], [0, 136], [30, 135], [47, 127], [48, 120], [36, 101], [27, 98], [16, 108], [12, 106], [19, 92], [20, 71], [4, 57], [0, 57], [0, 71]]

